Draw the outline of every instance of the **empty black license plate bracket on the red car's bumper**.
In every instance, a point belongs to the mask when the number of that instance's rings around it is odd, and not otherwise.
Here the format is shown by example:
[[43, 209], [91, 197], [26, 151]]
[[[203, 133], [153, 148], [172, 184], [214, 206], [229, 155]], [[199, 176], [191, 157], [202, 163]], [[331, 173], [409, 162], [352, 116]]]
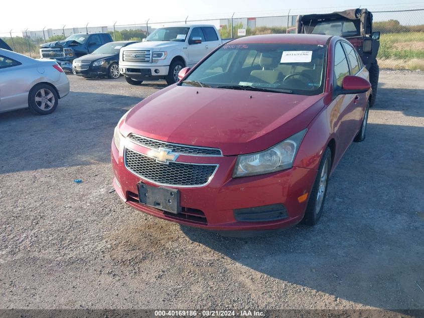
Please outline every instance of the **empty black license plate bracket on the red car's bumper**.
[[168, 211], [181, 213], [180, 190], [137, 183], [138, 201], [146, 205]]

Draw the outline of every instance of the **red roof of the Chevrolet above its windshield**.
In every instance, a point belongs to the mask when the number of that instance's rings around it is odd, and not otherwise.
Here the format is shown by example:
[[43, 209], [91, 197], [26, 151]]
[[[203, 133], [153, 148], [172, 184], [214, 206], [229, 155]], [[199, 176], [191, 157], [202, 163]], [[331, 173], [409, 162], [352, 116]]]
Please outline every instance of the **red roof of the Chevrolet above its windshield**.
[[332, 37], [331, 35], [320, 34], [266, 34], [238, 38], [229, 42], [229, 44], [290, 43], [327, 45]]

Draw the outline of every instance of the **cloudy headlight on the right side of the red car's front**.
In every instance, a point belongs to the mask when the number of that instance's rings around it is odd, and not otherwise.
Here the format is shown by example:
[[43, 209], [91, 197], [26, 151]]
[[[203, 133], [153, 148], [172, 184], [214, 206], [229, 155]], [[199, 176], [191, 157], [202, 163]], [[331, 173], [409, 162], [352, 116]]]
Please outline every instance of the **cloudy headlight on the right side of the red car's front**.
[[293, 167], [306, 129], [261, 152], [237, 157], [233, 178], [264, 174]]

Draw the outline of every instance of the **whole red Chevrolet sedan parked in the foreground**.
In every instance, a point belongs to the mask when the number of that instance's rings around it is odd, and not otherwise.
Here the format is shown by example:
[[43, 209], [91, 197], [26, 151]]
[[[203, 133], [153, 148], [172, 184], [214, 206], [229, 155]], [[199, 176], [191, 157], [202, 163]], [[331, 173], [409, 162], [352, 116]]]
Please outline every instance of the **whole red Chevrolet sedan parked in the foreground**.
[[351, 44], [244, 37], [179, 75], [115, 128], [119, 197], [210, 230], [315, 225], [329, 176], [350, 143], [365, 138], [370, 83]]

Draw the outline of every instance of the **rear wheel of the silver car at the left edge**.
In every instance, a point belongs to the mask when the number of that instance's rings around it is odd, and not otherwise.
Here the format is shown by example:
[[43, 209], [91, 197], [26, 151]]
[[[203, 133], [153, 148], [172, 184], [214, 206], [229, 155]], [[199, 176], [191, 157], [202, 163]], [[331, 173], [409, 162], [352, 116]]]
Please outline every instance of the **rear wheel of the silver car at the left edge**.
[[28, 106], [31, 111], [38, 115], [49, 115], [53, 113], [59, 102], [56, 89], [44, 83], [31, 88], [28, 95]]

